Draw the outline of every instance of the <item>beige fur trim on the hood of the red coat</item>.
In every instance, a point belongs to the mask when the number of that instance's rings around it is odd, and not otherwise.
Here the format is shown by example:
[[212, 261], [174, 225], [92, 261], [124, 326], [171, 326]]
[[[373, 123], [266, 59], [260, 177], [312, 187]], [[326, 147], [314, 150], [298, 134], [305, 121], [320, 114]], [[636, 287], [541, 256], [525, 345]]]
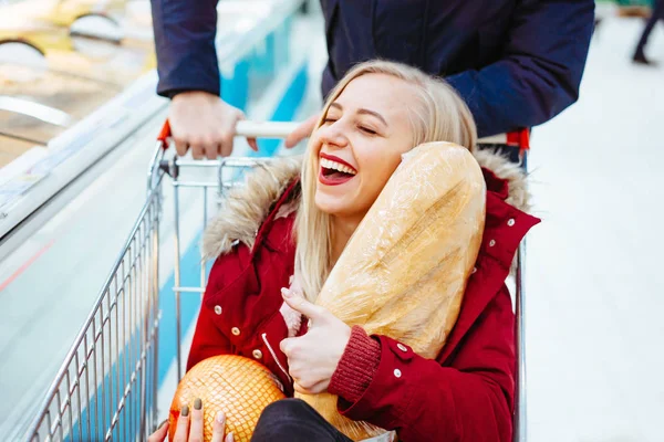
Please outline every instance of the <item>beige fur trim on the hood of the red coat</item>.
[[[474, 155], [481, 168], [507, 181], [509, 196], [506, 202], [528, 212], [530, 194], [523, 169], [491, 150], [477, 149]], [[230, 190], [224, 198], [219, 214], [204, 233], [204, 259], [216, 259], [227, 253], [238, 241], [253, 248], [261, 223], [274, 202], [299, 176], [301, 162], [302, 157], [288, 157], [262, 164], [248, 173], [246, 186]], [[278, 218], [292, 213], [297, 204], [298, 201], [292, 201], [282, 207]]]

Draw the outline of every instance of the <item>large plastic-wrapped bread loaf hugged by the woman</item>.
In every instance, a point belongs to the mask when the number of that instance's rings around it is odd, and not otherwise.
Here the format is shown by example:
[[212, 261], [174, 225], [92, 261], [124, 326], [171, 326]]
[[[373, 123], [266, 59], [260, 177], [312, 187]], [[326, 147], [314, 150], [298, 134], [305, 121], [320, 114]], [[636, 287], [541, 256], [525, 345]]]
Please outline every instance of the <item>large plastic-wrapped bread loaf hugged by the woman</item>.
[[[416, 147], [357, 227], [315, 303], [350, 326], [435, 358], [458, 317], [485, 213], [484, 176], [468, 149]], [[354, 441], [385, 433], [342, 417], [335, 396], [295, 397]]]

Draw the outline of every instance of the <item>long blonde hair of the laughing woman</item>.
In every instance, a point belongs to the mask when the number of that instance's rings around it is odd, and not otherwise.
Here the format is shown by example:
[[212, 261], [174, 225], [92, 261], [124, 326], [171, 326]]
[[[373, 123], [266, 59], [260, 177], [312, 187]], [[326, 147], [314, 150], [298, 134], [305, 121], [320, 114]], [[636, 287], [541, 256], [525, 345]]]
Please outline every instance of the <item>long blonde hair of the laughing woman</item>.
[[[315, 129], [324, 122], [330, 105], [353, 80], [366, 74], [385, 74], [414, 86], [417, 102], [408, 108], [413, 147], [423, 143], [450, 141], [469, 150], [475, 148], [477, 129], [470, 110], [444, 80], [429, 76], [404, 64], [370, 61], [353, 67], [332, 90]], [[314, 129], [314, 130], [315, 130]], [[315, 206], [318, 151], [310, 140], [301, 172], [302, 196], [294, 223], [295, 274], [301, 288], [314, 301], [330, 274], [332, 250], [331, 215]]]

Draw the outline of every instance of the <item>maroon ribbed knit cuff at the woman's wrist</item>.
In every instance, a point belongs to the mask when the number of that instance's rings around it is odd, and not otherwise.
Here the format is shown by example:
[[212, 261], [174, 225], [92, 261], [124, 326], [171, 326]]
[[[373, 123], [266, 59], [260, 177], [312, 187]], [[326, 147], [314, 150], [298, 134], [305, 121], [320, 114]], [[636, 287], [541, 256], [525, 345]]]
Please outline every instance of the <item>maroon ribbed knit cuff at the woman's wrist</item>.
[[328, 391], [356, 402], [371, 383], [381, 361], [381, 344], [354, 326], [351, 339], [332, 375]]

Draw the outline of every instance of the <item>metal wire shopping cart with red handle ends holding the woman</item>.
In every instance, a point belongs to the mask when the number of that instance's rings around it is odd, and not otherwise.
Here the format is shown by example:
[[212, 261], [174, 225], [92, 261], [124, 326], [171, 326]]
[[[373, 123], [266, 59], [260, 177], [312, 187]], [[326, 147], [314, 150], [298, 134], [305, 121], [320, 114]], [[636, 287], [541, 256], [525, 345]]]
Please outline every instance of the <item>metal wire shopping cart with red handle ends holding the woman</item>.
[[[240, 122], [238, 135], [260, 138], [283, 138], [293, 128], [291, 123]], [[168, 152], [168, 122], [159, 134], [157, 147], [147, 173], [147, 198], [129, 236], [122, 248], [106, 282], [81, 332], [76, 336], [58, 376], [53, 380], [27, 434], [29, 441], [129, 441], [145, 440], [156, 427], [158, 393], [159, 225], [164, 209], [164, 177], [173, 183], [174, 286], [176, 326], [176, 372], [181, 378], [180, 295], [203, 296], [206, 267], [200, 263], [198, 283], [181, 285], [181, 221], [184, 191], [199, 192], [187, 198], [191, 206], [203, 208], [203, 227], [208, 212], [227, 189], [238, 186], [241, 173], [270, 159], [225, 158], [187, 160]], [[480, 140], [484, 144], [507, 145], [520, 150], [526, 164], [528, 131], [501, 135]], [[197, 225], [200, 229], [200, 224]], [[523, 253], [518, 252], [516, 276], [516, 339], [518, 349], [518, 397], [515, 413], [515, 441], [526, 440], [526, 370], [523, 341]], [[162, 410], [164, 411], [164, 410]]]

